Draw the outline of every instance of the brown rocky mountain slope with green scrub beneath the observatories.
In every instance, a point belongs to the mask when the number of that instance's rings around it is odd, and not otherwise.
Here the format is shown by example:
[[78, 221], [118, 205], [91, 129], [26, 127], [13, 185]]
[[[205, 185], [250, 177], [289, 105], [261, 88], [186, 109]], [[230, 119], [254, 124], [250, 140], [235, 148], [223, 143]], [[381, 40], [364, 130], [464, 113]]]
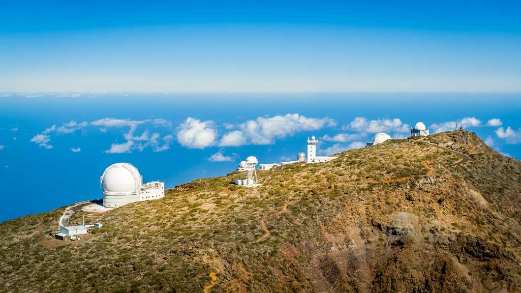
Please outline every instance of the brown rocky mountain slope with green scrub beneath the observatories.
[[339, 156], [84, 214], [80, 241], [47, 235], [63, 209], [4, 222], [0, 292], [521, 291], [521, 162], [462, 130]]

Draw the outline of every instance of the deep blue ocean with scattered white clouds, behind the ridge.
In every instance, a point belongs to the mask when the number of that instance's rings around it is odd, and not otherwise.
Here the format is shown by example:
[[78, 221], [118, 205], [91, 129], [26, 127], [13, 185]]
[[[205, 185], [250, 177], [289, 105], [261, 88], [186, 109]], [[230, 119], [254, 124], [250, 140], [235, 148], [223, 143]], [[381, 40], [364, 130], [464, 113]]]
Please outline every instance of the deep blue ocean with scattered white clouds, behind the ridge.
[[405, 138], [475, 131], [521, 158], [521, 94], [10, 94], [0, 97], [0, 221], [102, 197], [100, 176], [129, 162], [166, 188], [222, 176], [246, 156], [296, 160], [306, 139], [327, 155], [377, 132]]

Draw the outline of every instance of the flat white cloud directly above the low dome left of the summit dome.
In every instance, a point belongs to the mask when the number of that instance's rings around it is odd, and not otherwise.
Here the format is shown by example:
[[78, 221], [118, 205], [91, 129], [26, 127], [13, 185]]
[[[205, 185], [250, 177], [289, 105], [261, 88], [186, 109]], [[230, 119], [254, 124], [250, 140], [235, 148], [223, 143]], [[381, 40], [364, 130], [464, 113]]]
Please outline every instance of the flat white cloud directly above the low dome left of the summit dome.
[[407, 132], [411, 131], [408, 124], [398, 118], [368, 120], [365, 117], [355, 117], [349, 125], [342, 126], [342, 130], [354, 130], [361, 133], [378, 132]]

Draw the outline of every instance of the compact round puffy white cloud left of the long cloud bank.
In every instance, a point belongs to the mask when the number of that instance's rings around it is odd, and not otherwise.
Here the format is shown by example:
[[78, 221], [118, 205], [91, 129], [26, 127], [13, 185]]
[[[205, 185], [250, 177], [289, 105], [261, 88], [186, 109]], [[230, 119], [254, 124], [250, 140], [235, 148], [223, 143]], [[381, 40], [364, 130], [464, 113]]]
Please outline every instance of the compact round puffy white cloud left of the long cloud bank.
[[213, 145], [217, 137], [213, 121], [202, 122], [199, 119], [188, 117], [177, 129], [177, 141], [190, 149], [204, 149]]

